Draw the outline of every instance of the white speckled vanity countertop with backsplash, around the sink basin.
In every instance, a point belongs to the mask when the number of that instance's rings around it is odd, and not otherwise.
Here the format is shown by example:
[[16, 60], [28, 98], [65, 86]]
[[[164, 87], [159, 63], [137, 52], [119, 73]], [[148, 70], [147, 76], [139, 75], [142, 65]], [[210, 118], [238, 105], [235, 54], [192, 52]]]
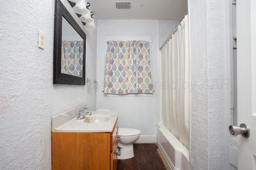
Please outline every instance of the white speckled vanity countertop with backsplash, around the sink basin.
[[[60, 113], [52, 117], [52, 132], [82, 132], [82, 133], [100, 133], [112, 132], [118, 117], [118, 111], [90, 111], [92, 115], [86, 115], [83, 119], [77, 120], [78, 112], [86, 106], [76, 107], [70, 111]], [[96, 115], [106, 115], [109, 119], [104, 122], [86, 123], [87, 117]]]

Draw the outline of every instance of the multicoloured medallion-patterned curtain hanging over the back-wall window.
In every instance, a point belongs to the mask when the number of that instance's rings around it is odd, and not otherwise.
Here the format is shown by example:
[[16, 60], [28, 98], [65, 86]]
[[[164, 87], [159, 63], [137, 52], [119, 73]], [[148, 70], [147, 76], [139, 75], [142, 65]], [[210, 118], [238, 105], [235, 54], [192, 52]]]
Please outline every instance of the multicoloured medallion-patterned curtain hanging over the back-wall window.
[[108, 41], [104, 92], [109, 94], [152, 93], [149, 43]]

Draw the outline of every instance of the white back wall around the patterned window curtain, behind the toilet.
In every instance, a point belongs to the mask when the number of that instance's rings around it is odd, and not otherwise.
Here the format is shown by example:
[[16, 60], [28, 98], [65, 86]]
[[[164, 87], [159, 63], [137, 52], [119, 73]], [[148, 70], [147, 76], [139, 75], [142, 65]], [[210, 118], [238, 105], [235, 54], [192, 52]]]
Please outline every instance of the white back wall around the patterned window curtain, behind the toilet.
[[[151, 35], [150, 70], [155, 92], [147, 97], [104, 97], [104, 35]], [[156, 142], [158, 88], [158, 20], [98, 20], [97, 32], [97, 109], [119, 111], [119, 127], [139, 129], [138, 142]]]

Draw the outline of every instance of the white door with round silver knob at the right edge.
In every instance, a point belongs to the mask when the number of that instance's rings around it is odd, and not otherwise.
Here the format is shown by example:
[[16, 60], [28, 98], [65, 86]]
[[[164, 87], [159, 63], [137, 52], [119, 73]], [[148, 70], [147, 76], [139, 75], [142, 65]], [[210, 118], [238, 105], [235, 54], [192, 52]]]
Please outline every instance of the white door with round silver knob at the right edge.
[[236, 0], [238, 125], [250, 129], [238, 135], [238, 170], [256, 170], [256, 0]]

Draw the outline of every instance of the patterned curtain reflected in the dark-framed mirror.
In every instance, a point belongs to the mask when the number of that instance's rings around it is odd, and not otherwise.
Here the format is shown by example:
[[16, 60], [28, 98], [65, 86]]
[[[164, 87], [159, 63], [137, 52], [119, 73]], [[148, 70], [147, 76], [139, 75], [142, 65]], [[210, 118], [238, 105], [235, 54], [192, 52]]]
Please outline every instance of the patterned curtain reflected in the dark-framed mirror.
[[83, 41], [62, 41], [61, 73], [83, 77]]

